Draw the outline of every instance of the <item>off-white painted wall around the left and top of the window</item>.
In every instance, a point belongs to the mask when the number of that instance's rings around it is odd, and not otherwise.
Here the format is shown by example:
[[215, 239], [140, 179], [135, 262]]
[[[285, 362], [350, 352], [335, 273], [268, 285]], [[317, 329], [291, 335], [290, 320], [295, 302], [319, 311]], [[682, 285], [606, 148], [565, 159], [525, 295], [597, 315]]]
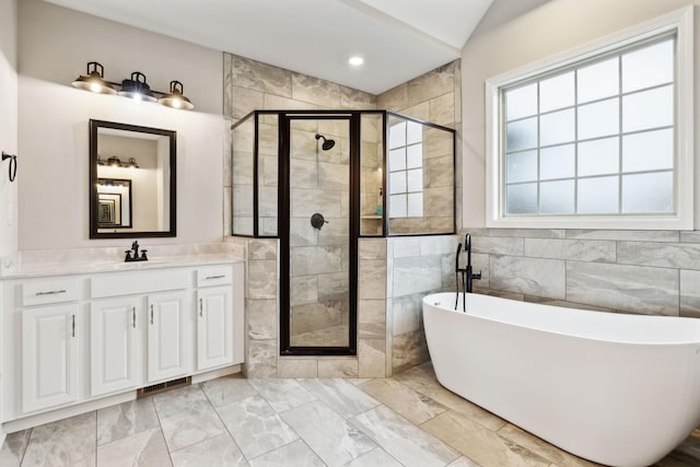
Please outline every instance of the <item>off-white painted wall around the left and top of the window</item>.
[[[514, 19], [491, 21], [489, 14], [511, 1], [494, 1], [482, 21], [488, 27], [477, 28], [462, 50], [463, 226], [486, 225], [487, 79], [693, 4], [692, 0], [550, 0]], [[696, 12], [696, 34], [700, 31], [698, 16]], [[700, 54], [697, 43], [696, 62]], [[696, 189], [696, 207], [700, 206], [699, 191]]]

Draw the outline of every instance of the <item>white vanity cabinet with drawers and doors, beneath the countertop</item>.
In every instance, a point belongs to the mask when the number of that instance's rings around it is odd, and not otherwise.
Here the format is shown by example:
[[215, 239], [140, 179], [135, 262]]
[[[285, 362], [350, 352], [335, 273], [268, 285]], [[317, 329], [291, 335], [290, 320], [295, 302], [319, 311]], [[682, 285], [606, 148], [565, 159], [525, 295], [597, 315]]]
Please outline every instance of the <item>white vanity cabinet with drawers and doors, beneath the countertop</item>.
[[1, 278], [1, 428], [23, 429], [185, 376], [240, 372], [244, 264]]

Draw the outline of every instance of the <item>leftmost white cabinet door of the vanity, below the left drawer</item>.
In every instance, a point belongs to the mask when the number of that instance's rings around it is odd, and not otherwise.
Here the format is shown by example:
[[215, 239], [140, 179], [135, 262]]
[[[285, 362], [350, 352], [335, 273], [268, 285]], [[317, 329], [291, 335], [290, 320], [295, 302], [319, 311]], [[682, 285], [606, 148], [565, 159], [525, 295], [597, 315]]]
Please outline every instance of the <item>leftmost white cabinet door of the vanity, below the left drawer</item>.
[[22, 311], [22, 410], [78, 399], [78, 305]]

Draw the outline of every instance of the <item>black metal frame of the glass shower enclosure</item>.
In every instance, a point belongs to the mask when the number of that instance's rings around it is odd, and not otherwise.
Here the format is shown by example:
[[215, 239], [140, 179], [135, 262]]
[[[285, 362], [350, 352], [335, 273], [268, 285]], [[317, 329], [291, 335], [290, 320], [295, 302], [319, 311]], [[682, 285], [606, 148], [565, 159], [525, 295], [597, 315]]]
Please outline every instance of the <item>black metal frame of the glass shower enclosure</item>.
[[[362, 219], [361, 219], [361, 190], [362, 190], [362, 116], [375, 115], [381, 117], [382, 130], [381, 130], [381, 156], [378, 159], [381, 174], [381, 189], [384, 194], [382, 198], [382, 214], [381, 214], [381, 232], [376, 234], [363, 234], [361, 232]], [[261, 116], [276, 116], [277, 120], [277, 157], [278, 157], [278, 179], [277, 179], [277, 234], [270, 235], [260, 233], [260, 186], [259, 186], [259, 163], [260, 163], [260, 148], [259, 148], [259, 126]], [[395, 116], [407, 121], [413, 121], [422, 126], [439, 129], [450, 132], [452, 135], [452, 166], [453, 166], [453, 183], [452, 183], [452, 231], [451, 232], [427, 232], [427, 233], [392, 233], [389, 230], [389, 202], [387, 196], [387, 151], [389, 140], [389, 117]], [[452, 128], [443, 127], [427, 120], [409, 117], [390, 110], [284, 110], [284, 109], [261, 109], [253, 110], [242, 117], [238, 121], [231, 126], [231, 130], [235, 130], [238, 126], [253, 119], [253, 225], [252, 234], [235, 233], [235, 215], [231, 215], [231, 232], [234, 236], [249, 237], [249, 238], [277, 238], [280, 242], [280, 258], [279, 258], [279, 354], [282, 357], [288, 355], [357, 355], [358, 351], [358, 247], [360, 238], [383, 238], [389, 236], [431, 236], [431, 235], [450, 235], [456, 232], [456, 195], [457, 186], [454, 177], [454, 168], [456, 167], [456, 131]], [[291, 346], [291, 323], [290, 323], [290, 121], [298, 119], [306, 120], [325, 120], [325, 119], [342, 119], [349, 121], [349, 139], [350, 139], [350, 153], [349, 153], [349, 172], [350, 172], [350, 200], [349, 200], [349, 345], [348, 347], [302, 347]], [[285, 213], [282, 215], [282, 213]]]

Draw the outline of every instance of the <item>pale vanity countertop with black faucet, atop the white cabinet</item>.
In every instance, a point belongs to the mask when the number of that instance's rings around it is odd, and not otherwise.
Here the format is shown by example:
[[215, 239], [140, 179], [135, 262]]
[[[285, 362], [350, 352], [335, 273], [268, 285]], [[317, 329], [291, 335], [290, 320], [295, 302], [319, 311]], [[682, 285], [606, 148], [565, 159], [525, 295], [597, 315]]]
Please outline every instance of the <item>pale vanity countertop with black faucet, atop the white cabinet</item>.
[[135, 271], [145, 269], [164, 269], [187, 266], [207, 266], [224, 262], [242, 262], [235, 255], [226, 253], [165, 256], [148, 261], [67, 261], [67, 262], [28, 262], [2, 271], [0, 280], [26, 279], [35, 277], [90, 275], [100, 272]]

